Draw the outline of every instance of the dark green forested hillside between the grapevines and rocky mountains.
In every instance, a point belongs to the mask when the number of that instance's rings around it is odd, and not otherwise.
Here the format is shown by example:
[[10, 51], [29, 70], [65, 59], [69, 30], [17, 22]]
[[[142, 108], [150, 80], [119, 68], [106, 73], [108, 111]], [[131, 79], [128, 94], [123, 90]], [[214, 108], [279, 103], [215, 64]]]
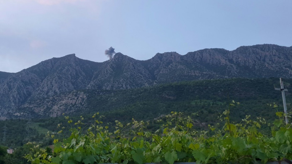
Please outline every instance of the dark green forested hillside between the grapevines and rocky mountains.
[[[287, 108], [291, 111], [290, 84], [292, 79], [284, 79], [287, 87]], [[188, 81], [161, 84], [153, 87], [143, 87], [129, 90], [80, 90], [88, 97], [87, 108], [76, 110], [73, 113], [65, 111], [70, 117], [83, 116], [90, 120], [91, 116], [100, 112], [105, 117], [104, 122], [120, 120], [129, 122], [132, 118], [152, 122], [171, 111], [181, 111], [185, 114], [196, 113], [196, 126], [198, 129], [207, 128], [207, 125], [215, 125], [217, 117], [227, 109], [228, 104], [235, 100], [240, 102], [231, 110], [231, 121], [240, 121], [246, 115], [251, 118], [262, 117], [267, 121], [274, 120], [276, 109], [267, 104], [278, 104], [278, 110], [282, 111], [282, 95], [274, 86], [279, 87], [278, 78], [261, 79], [218, 79], [205, 81]], [[45, 99], [44, 99], [45, 101]], [[40, 101], [40, 103], [42, 103]], [[21, 122], [21, 123], [20, 123]], [[31, 138], [41, 141], [46, 131], [57, 132], [57, 124], [66, 121], [63, 116], [56, 118], [33, 118], [31, 120]], [[19, 125], [18, 125], [19, 124]], [[7, 126], [7, 144], [19, 146], [23, 144], [27, 136], [27, 120], [0, 121], [0, 131]], [[18, 132], [15, 133], [15, 126]], [[0, 138], [3, 133], [0, 133]], [[47, 141], [49, 142], [49, 141]]]

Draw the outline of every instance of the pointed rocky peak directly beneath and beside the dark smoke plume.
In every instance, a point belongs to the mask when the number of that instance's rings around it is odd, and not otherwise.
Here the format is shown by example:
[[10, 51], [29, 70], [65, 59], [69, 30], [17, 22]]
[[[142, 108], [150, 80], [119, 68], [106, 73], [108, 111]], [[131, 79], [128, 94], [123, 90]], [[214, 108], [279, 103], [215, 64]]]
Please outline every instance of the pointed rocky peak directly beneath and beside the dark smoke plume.
[[151, 85], [151, 74], [139, 61], [117, 53], [94, 74], [87, 89], [117, 90]]

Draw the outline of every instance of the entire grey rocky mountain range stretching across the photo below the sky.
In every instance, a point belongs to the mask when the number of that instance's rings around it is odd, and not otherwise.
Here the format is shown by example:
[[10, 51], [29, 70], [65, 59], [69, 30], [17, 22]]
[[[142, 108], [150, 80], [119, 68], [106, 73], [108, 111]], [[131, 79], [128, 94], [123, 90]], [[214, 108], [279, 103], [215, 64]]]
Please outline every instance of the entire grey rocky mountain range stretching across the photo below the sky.
[[18, 73], [0, 72], [0, 119], [58, 116], [86, 107], [76, 90], [119, 90], [157, 83], [215, 78], [292, 78], [292, 47], [241, 46], [233, 51], [204, 49], [180, 55], [156, 54], [145, 61], [117, 53], [103, 63], [75, 54], [45, 60]]

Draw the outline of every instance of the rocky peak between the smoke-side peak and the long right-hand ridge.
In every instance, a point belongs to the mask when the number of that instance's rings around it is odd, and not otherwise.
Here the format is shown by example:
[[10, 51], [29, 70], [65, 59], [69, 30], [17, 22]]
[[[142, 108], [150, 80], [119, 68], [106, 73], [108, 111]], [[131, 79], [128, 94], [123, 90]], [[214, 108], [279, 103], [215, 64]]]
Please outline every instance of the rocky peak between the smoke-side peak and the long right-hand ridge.
[[158, 53], [146, 63], [149, 72], [158, 83], [224, 78], [206, 69], [199, 62], [176, 52]]

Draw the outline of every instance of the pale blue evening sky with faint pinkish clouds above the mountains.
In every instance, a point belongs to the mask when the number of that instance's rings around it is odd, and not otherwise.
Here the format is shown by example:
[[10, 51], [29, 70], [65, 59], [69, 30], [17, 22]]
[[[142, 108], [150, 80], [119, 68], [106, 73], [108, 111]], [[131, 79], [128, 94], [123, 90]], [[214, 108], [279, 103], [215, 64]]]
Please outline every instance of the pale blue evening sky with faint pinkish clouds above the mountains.
[[292, 46], [292, 1], [0, 0], [0, 71], [53, 57], [137, 60], [205, 48]]

